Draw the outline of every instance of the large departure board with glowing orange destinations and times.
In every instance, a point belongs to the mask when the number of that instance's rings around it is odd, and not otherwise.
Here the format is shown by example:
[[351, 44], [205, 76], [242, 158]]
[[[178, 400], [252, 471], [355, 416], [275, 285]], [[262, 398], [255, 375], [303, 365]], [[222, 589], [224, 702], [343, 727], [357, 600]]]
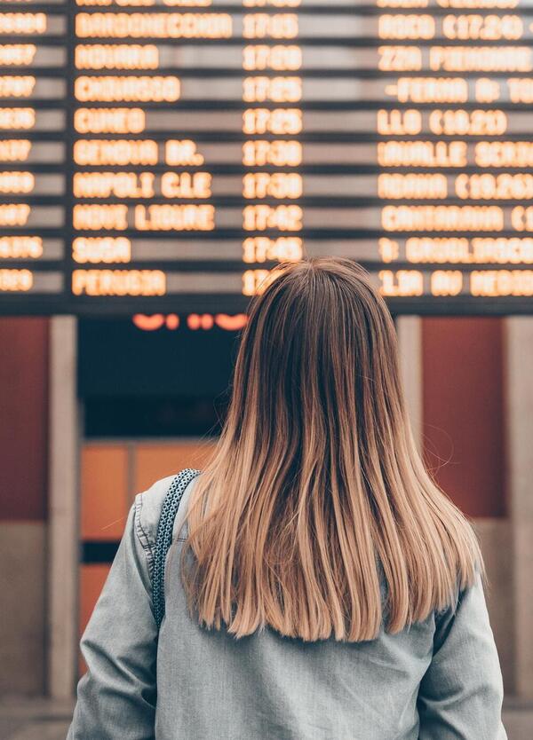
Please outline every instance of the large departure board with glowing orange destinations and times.
[[533, 0], [0, 0], [0, 312], [236, 313], [322, 255], [533, 312]]

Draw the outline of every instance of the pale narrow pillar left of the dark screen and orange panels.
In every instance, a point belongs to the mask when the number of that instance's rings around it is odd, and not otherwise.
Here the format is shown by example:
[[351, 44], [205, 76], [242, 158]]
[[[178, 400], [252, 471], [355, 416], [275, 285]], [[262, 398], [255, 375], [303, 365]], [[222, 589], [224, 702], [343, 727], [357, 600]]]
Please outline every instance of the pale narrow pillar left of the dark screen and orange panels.
[[71, 697], [76, 685], [79, 438], [76, 319], [50, 327], [47, 689]]

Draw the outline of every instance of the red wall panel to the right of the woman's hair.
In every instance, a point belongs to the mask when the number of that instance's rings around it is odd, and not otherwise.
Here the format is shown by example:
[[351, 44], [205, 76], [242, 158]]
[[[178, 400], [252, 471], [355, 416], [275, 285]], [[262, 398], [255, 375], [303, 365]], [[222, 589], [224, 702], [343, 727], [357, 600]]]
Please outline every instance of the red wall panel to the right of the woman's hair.
[[429, 468], [469, 516], [505, 515], [503, 322], [422, 319]]

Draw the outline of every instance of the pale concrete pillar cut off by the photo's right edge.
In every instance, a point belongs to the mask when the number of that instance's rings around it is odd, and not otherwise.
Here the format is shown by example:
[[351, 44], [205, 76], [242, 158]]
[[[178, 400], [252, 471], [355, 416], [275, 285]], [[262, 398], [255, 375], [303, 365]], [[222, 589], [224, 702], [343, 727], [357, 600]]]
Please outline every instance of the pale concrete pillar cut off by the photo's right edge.
[[[515, 690], [533, 698], [533, 317], [506, 319], [508, 485], [513, 528]], [[512, 613], [512, 612], [511, 612]]]

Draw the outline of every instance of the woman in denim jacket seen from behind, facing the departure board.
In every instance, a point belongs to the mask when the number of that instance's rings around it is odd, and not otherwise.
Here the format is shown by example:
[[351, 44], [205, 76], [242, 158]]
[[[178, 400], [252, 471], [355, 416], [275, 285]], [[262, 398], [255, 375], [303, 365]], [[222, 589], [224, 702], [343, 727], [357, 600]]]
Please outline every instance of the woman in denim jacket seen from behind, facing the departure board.
[[161, 631], [171, 478], [131, 507], [68, 740], [504, 740], [480, 549], [420, 460], [397, 355], [358, 265], [269, 275], [180, 504]]

